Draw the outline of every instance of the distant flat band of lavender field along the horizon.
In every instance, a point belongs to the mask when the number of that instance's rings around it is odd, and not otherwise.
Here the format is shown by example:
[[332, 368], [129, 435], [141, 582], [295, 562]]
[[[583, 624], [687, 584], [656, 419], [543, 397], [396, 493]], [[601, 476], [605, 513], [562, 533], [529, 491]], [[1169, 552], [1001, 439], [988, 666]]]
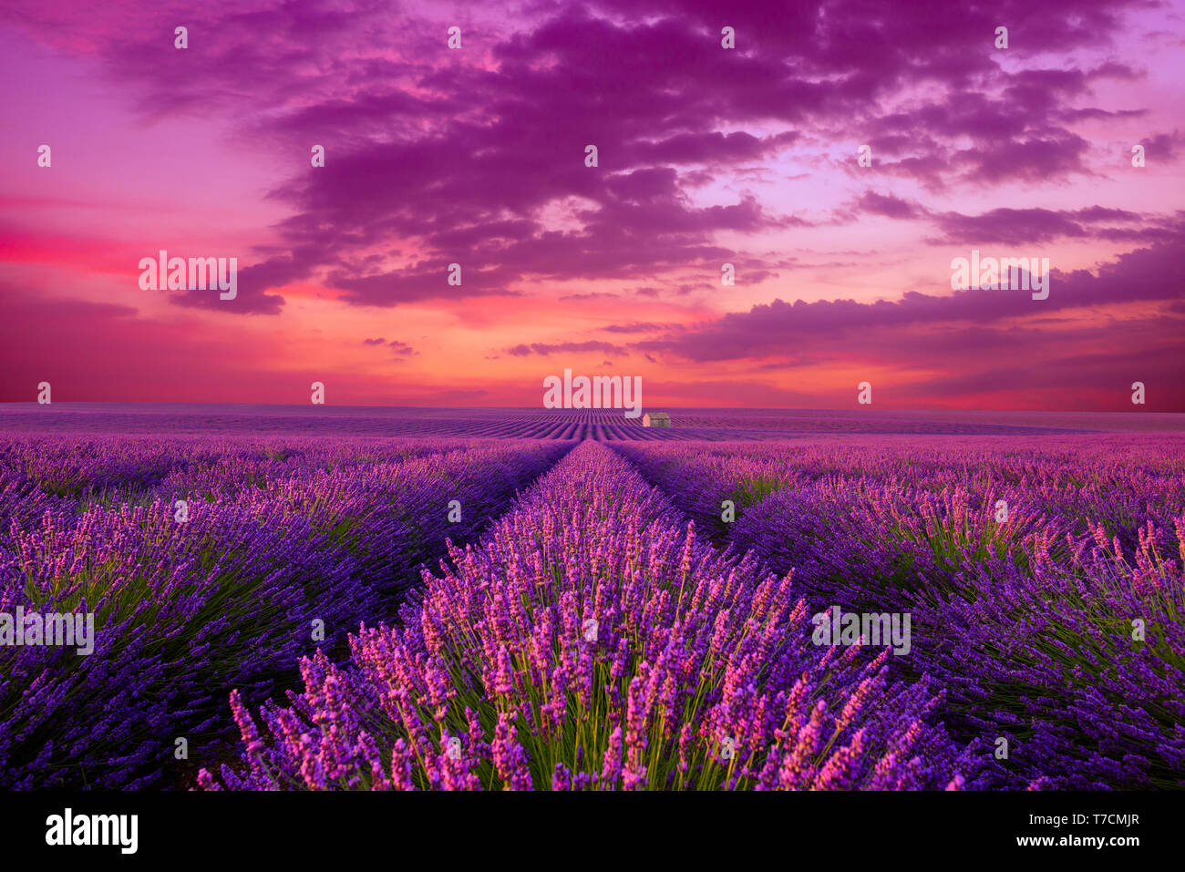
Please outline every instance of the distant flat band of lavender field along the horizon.
[[1185, 432], [1161, 412], [914, 412], [665, 409], [670, 429], [621, 410], [384, 409], [179, 403], [8, 403], [0, 432], [288, 434], [617, 441], [776, 441], [802, 434]]

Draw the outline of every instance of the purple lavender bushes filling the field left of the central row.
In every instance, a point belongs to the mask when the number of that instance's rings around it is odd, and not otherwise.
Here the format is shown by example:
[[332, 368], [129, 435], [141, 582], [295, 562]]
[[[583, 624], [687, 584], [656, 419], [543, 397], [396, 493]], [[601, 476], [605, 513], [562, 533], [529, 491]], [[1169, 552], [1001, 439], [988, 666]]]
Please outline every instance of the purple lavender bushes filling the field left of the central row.
[[301, 655], [344, 649], [446, 537], [474, 536], [570, 448], [6, 443], [0, 613], [91, 613], [95, 645], [0, 647], [0, 787], [180, 783], [182, 746], [226, 739], [232, 688], [261, 700]]

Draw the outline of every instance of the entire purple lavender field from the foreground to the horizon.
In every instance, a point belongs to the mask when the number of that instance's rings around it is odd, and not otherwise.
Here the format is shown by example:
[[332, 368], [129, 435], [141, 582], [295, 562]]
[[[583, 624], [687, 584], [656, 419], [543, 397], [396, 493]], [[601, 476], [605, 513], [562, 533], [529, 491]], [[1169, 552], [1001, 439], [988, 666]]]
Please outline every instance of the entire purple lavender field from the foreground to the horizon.
[[9, 405], [0, 788], [1185, 787], [1180, 416], [672, 417]]

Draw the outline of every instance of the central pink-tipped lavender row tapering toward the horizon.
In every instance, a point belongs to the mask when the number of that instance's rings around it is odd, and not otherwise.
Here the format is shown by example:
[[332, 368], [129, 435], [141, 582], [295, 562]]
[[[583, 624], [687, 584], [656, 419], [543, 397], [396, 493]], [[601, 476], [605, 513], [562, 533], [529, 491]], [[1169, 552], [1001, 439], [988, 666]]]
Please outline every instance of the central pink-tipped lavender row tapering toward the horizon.
[[305, 690], [238, 694], [232, 789], [982, 787], [991, 744], [952, 742], [927, 677], [815, 645], [789, 577], [697, 541], [661, 494], [585, 442], [352, 659]]

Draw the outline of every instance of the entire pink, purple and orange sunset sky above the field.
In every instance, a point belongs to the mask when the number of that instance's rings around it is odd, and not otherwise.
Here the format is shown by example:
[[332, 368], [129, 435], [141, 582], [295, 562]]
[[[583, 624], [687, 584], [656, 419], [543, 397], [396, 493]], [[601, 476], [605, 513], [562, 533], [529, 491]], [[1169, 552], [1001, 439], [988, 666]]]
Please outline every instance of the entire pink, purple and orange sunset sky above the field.
[[[0, 402], [533, 406], [571, 368], [1185, 411], [1185, 2], [9, 1], [0, 72]], [[237, 299], [141, 290], [161, 249]], [[1049, 299], [952, 290], [973, 249]]]

